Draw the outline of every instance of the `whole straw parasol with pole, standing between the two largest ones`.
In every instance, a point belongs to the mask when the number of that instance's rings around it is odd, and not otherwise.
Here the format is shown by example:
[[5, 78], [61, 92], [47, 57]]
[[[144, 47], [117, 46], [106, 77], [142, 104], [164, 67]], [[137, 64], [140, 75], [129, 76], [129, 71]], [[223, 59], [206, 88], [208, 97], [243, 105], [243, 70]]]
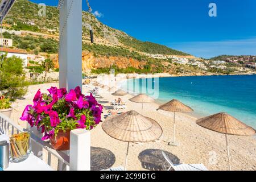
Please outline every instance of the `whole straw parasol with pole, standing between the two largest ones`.
[[[175, 143], [175, 112], [189, 113], [189, 112], [192, 112], [193, 109], [187, 105], [184, 105], [182, 102], [174, 99], [174, 100], [171, 100], [170, 102], [167, 102], [166, 104], [159, 106], [157, 110], [174, 112], [174, 139], [172, 141], [172, 145], [176, 146], [177, 144]], [[168, 144], [170, 145], [171, 142], [168, 142]]]

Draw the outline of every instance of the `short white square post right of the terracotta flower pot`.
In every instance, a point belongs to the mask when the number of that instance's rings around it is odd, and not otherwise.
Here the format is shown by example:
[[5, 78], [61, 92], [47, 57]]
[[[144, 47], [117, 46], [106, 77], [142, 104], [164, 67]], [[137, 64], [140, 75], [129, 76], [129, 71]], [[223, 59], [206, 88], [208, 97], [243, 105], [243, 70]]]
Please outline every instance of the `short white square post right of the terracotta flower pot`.
[[76, 129], [70, 135], [69, 169], [90, 171], [90, 131]]

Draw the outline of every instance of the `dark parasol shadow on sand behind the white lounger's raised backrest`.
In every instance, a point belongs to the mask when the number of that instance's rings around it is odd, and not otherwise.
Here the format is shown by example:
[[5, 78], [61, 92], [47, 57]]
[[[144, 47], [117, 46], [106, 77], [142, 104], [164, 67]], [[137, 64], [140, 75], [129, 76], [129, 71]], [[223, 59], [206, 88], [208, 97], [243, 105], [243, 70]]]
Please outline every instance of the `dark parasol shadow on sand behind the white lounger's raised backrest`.
[[[166, 162], [166, 159], [164, 159], [162, 151], [163, 150], [159, 149], [147, 149], [142, 151], [138, 156], [139, 161], [141, 161], [142, 167], [150, 171], [163, 171], [163, 166], [167, 166], [168, 163]], [[180, 163], [180, 159], [177, 158], [176, 155], [171, 154], [167, 151], [164, 151], [164, 153], [166, 153], [172, 163]]]

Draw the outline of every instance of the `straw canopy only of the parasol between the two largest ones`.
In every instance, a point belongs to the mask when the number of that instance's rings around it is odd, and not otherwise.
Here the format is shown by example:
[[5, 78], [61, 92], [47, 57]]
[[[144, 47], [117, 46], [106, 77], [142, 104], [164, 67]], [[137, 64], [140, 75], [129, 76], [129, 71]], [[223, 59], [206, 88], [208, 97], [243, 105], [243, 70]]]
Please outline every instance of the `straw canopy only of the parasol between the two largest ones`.
[[159, 106], [158, 110], [166, 110], [166, 111], [171, 111], [171, 112], [182, 112], [182, 113], [189, 113], [192, 112], [193, 109], [182, 102], [174, 99], [171, 100], [170, 102], [167, 102], [166, 104], [163, 104]]

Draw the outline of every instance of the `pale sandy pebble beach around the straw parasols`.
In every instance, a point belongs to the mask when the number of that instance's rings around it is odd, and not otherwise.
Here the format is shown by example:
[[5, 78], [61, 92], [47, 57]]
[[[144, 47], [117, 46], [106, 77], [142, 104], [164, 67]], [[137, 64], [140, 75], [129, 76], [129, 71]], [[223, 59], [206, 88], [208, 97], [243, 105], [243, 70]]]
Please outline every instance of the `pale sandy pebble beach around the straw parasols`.
[[[27, 104], [32, 104], [32, 98], [36, 91], [40, 88], [42, 92], [47, 92], [50, 86], [58, 86], [54, 84], [32, 85], [29, 87], [29, 92], [24, 100], [17, 100], [13, 106], [14, 111], [11, 116], [14, 121], [21, 126], [26, 127], [26, 123], [20, 122], [19, 117]], [[83, 87], [83, 92], [87, 93], [92, 90], [94, 86], [89, 85]], [[117, 97], [112, 96], [110, 92], [100, 89], [100, 96], [102, 105], [104, 105], [104, 113], [102, 120], [104, 122], [104, 115], [111, 109], [110, 102]], [[150, 163], [162, 163], [162, 156], [148, 155], [148, 151], [164, 150], [170, 152], [173, 159], [179, 163], [203, 163], [210, 170], [227, 170], [228, 159], [226, 154], [225, 137], [223, 134], [209, 131], [196, 125], [196, 118], [190, 115], [177, 113], [176, 114], [176, 139], [179, 146], [168, 146], [165, 141], [170, 141], [173, 134], [173, 115], [156, 111], [158, 104], [144, 104], [144, 109], [141, 109], [141, 104], [135, 104], [129, 101], [130, 94], [123, 96], [122, 100], [126, 102], [127, 109], [137, 110], [142, 115], [155, 119], [163, 129], [163, 137], [160, 142], [148, 142], [143, 144], [130, 144], [130, 152], [128, 158], [128, 170], [145, 170], [150, 166]], [[103, 104], [104, 103], [104, 104]], [[106, 148], [113, 152], [115, 161], [113, 167], [124, 166], [127, 143], [121, 142], [109, 137], [101, 127], [101, 124], [91, 131], [91, 138], [93, 147]], [[234, 170], [256, 170], [256, 140], [253, 137], [238, 137], [229, 135], [229, 147], [231, 155], [232, 169]], [[153, 165], [154, 166], [154, 165]]]

